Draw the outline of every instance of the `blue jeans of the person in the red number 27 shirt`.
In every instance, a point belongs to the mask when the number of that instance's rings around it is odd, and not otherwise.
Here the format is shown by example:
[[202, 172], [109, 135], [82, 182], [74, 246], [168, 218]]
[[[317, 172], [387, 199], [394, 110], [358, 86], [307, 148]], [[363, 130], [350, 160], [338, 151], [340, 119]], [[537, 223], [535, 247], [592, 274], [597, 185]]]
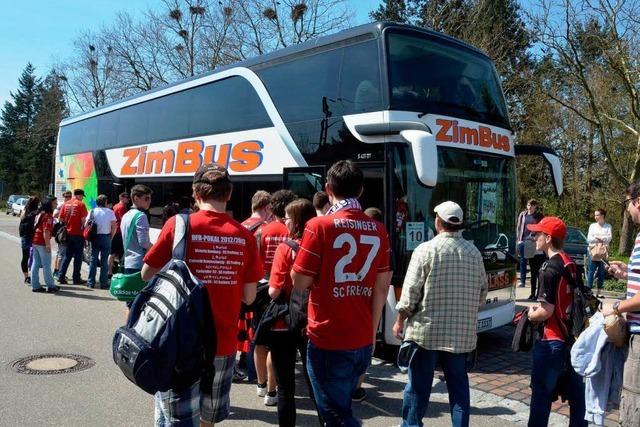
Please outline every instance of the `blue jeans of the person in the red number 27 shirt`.
[[309, 341], [307, 371], [325, 426], [361, 425], [351, 412], [351, 394], [371, 363], [371, 351], [370, 345], [356, 350], [323, 350]]

